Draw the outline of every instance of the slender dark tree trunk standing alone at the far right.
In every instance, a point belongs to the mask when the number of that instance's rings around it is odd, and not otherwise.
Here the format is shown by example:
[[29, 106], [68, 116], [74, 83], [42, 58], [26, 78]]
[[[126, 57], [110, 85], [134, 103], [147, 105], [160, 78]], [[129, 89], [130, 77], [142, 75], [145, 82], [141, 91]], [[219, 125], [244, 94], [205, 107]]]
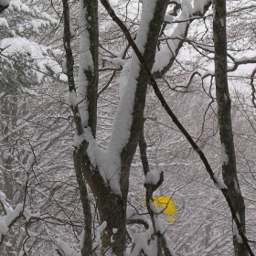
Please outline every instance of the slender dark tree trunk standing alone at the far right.
[[[226, 1], [213, 1], [213, 35], [215, 47], [215, 80], [218, 103], [219, 135], [222, 149], [222, 176], [228, 187], [229, 198], [237, 212], [245, 233], [245, 206], [240, 194], [237, 175], [235, 146], [232, 133], [230, 97], [227, 73]], [[236, 256], [247, 256], [248, 251], [242, 242], [233, 220], [233, 244]]]

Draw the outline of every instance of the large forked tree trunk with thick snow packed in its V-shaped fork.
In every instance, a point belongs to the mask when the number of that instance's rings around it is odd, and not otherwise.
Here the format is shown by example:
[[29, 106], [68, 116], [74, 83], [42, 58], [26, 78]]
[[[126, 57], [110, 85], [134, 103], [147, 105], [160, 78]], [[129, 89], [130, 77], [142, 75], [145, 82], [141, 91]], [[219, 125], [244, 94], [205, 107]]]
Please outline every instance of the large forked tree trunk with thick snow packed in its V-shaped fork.
[[[103, 3], [104, 2], [104, 3]], [[110, 7], [107, 1], [101, 1]], [[168, 1], [146, 1], [136, 44], [152, 69], [155, 49]], [[67, 1], [63, 0], [64, 13]], [[98, 83], [98, 8], [97, 1], [80, 1], [80, 73], [79, 89], [76, 91], [73, 76], [73, 59], [70, 48], [69, 16], [66, 14], [64, 45], [69, 76], [68, 103], [74, 113], [77, 135], [76, 171], [81, 171], [96, 199], [101, 222], [107, 226], [102, 235], [104, 253], [123, 255], [126, 242], [126, 203], [129, 172], [133, 155], [143, 125], [144, 105], [148, 77], [139, 60], [133, 54], [130, 72], [113, 123], [112, 137], [107, 151], [102, 152], [95, 138]], [[65, 10], [66, 8], [66, 10]], [[77, 175], [78, 176], [78, 175]], [[80, 189], [80, 197], [83, 193]], [[85, 221], [87, 216], [84, 216]], [[90, 223], [86, 223], [87, 225]], [[88, 233], [89, 235], [89, 233]], [[84, 241], [86, 244], [86, 241]]]

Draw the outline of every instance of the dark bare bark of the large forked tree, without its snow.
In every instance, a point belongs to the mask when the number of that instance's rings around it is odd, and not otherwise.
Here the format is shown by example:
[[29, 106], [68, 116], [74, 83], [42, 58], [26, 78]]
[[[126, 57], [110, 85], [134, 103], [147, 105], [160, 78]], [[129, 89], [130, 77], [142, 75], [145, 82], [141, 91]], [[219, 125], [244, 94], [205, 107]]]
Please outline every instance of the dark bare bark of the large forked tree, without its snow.
[[[108, 1], [104, 2], [105, 5], [110, 7]], [[156, 1], [154, 17], [149, 24], [149, 29], [146, 38], [146, 44], [144, 46], [144, 59], [149, 68], [153, 67], [155, 60], [155, 48], [157, 43], [157, 38], [159, 35], [160, 27], [163, 23], [165, 16], [165, 9], [167, 6], [167, 0]], [[96, 122], [97, 122], [97, 86], [98, 86], [98, 3], [96, 0], [81, 0], [81, 6], [83, 6], [81, 14], [88, 23], [91, 22], [90, 26], [84, 27], [87, 29], [89, 34], [89, 39], [91, 43], [90, 54], [93, 62], [94, 70], [85, 69], [83, 74], [86, 77], [87, 84], [84, 84], [86, 95], [84, 95], [84, 101], [87, 101], [89, 119], [88, 123], [81, 124], [80, 119], [80, 109], [78, 106], [71, 106], [74, 114], [74, 119], [76, 123], [77, 134], [80, 135], [84, 133], [82, 125], [87, 125], [91, 128], [91, 134], [95, 137]], [[67, 69], [69, 77], [69, 91], [76, 91], [75, 83], [73, 79], [73, 57], [70, 48], [70, 33], [69, 33], [69, 10], [67, 0], [63, 0], [64, 5], [64, 46], [66, 49], [67, 57]], [[111, 8], [111, 7], [110, 7]], [[109, 11], [109, 10], [108, 10]], [[82, 49], [81, 49], [82, 50]], [[112, 191], [112, 187], [106, 184], [101, 177], [98, 170], [98, 166], [92, 166], [90, 158], [87, 155], [88, 144], [84, 141], [74, 152], [74, 163], [75, 170], [78, 177], [78, 183], [80, 187], [80, 197], [84, 198], [85, 201], [82, 202], [84, 215], [86, 215], [86, 208], [88, 208], [88, 203], [86, 202], [86, 189], [84, 183], [82, 182], [80, 172], [82, 172], [84, 179], [91, 187], [93, 196], [96, 199], [97, 208], [99, 210], [101, 222], [106, 221], [107, 227], [103, 232], [102, 236], [102, 246], [104, 248], [104, 253], [112, 251], [116, 256], [122, 256], [123, 251], [125, 251], [126, 245], [126, 203], [127, 194], [129, 187], [129, 172], [130, 166], [133, 159], [133, 155], [139, 140], [139, 134], [143, 125], [143, 114], [144, 114], [144, 104], [145, 95], [147, 87], [147, 75], [143, 68], [139, 70], [139, 76], [137, 78], [137, 89], [135, 91], [134, 105], [133, 105], [133, 122], [131, 125], [131, 135], [128, 139], [127, 144], [123, 147], [121, 153], [121, 178], [120, 187], [121, 195], [115, 195]], [[83, 86], [80, 83], [80, 86]], [[86, 216], [85, 216], [86, 220]], [[88, 223], [90, 225], [90, 223]], [[116, 233], [113, 233], [113, 229], [117, 229]], [[89, 234], [89, 229], [85, 230]]]

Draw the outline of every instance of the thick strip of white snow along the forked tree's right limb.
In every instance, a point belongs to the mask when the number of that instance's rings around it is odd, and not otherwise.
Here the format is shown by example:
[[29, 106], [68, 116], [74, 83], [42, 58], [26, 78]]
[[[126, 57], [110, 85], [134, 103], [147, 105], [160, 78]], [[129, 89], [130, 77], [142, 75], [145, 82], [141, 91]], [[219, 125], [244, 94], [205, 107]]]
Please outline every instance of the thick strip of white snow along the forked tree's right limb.
[[[127, 36], [128, 34], [130, 35], [128, 29], [123, 25], [123, 22], [117, 16], [115, 16], [109, 2], [101, 0], [101, 4], [104, 5], [112, 18], [115, 21], [118, 20], [119, 25], [123, 26], [123, 28], [126, 29], [126, 31], [124, 32], [125, 36]], [[155, 0], [144, 2], [140, 27], [135, 41], [138, 51], [140, 51], [141, 54], [144, 54], [145, 45], [148, 40], [150, 23], [155, 15], [155, 6]], [[110, 174], [112, 175], [110, 185], [115, 191], [120, 191], [119, 179], [121, 174], [121, 153], [131, 136], [134, 100], [136, 96], [136, 90], [141, 69], [142, 68], [140, 65], [140, 61], [137, 59], [134, 53], [131, 61], [129, 61], [128, 64], [125, 64], [123, 67], [123, 70], [127, 71], [125, 80], [123, 80], [123, 95], [125, 95], [125, 97], [121, 98], [121, 101], [118, 105], [118, 109], [115, 115], [115, 121], [112, 127], [112, 136], [106, 150], [107, 157], [106, 161], [104, 162], [105, 164], [107, 164], [107, 166], [110, 166], [108, 169], [105, 169], [104, 172], [106, 176], [110, 176]]]

